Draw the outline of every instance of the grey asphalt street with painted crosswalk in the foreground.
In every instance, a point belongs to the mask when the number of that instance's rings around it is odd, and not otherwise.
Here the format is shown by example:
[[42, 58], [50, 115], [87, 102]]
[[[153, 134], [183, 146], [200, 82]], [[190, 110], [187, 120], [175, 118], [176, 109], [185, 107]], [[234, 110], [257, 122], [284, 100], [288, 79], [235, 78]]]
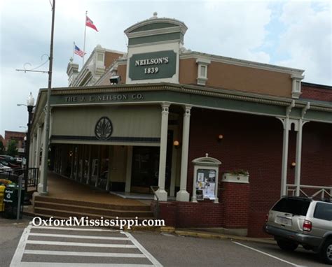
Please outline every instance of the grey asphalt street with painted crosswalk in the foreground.
[[299, 247], [0, 220], [0, 266], [326, 266]]

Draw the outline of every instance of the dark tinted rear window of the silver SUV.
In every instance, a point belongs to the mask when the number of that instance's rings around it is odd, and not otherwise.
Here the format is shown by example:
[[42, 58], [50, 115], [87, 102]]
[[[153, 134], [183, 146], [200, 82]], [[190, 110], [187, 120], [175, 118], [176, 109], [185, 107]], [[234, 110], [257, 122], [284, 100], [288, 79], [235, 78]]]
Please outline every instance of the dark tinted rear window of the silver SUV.
[[280, 199], [272, 210], [305, 216], [309, 205], [310, 201], [305, 199]]

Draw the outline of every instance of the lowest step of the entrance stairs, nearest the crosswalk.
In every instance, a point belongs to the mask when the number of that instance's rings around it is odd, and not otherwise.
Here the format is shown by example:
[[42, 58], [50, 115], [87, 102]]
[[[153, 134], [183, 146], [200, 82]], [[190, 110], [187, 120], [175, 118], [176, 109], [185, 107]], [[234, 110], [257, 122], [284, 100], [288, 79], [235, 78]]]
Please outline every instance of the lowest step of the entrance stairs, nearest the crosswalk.
[[[100, 217], [104, 217], [104, 219], [116, 219], [116, 216], [109, 215], [99, 215], [94, 213], [82, 213], [82, 212], [73, 212], [66, 210], [56, 210], [51, 208], [34, 208], [34, 215], [36, 214], [43, 215], [44, 217], [59, 217], [59, 218], [69, 218], [69, 217], [89, 217], [89, 219], [100, 219]], [[119, 217], [119, 219], [133, 219], [134, 217]], [[154, 219], [153, 217], [139, 217], [138, 220], [141, 222], [143, 219]]]

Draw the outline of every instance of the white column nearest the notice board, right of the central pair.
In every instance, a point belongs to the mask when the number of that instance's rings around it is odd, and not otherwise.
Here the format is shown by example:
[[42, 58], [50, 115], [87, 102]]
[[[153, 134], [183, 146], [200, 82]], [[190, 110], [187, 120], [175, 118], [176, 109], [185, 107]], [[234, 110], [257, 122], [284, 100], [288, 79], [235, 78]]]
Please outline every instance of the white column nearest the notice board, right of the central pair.
[[182, 131], [180, 191], [177, 192], [177, 201], [189, 201], [189, 193], [187, 192], [187, 174], [190, 123], [191, 107], [186, 106], [186, 110], [184, 112], [184, 130]]

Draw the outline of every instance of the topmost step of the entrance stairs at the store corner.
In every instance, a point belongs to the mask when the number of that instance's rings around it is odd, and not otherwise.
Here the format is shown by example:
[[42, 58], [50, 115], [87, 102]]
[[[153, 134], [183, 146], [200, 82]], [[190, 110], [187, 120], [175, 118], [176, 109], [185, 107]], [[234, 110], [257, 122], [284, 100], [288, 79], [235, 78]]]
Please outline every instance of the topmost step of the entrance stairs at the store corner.
[[57, 203], [57, 204], [67, 204], [76, 205], [81, 207], [91, 207], [91, 208], [104, 208], [108, 210], [141, 210], [150, 211], [149, 205], [116, 205], [109, 203], [97, 203], [89, 201], [77, 201], [71, 199], [56, 199], [49, 196], [34, 196], [34, 201], [47, 202], [47, 203]]

